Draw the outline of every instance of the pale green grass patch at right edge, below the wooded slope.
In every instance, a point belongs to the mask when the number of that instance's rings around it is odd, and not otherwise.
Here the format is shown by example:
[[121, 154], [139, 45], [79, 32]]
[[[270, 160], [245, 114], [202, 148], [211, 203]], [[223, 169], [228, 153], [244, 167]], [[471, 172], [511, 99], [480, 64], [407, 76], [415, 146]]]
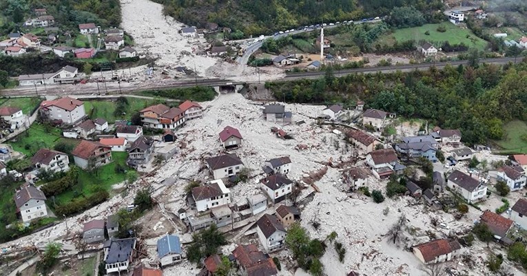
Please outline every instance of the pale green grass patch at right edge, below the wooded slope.
[[505, 125], [505, 138], [495, 143], [502, 148], [500, 153], [527, 153], [527, 124], [521, 120], [513, 120]]

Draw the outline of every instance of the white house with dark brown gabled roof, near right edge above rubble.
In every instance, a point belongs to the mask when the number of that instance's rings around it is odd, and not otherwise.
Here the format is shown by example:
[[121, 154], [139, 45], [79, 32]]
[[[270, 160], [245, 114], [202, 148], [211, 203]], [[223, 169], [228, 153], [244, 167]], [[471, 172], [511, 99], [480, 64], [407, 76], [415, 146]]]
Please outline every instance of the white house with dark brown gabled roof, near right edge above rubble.
[[448, 176], [446, 186], [452, 191], [461, 194], [468, 202], [481, 200], [487, 195], [486, 184], [458, 170], [455, 170]]

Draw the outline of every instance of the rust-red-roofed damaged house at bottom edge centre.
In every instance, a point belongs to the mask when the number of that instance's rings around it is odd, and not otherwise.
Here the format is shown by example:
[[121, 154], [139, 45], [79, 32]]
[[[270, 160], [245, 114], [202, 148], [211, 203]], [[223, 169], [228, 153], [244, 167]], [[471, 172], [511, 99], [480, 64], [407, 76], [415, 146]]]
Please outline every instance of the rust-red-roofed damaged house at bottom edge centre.
[[258, 251], [256, 244], [239, 245], [232, 251], [242, 276], [273, 276], [278, 274], [269, 255]]

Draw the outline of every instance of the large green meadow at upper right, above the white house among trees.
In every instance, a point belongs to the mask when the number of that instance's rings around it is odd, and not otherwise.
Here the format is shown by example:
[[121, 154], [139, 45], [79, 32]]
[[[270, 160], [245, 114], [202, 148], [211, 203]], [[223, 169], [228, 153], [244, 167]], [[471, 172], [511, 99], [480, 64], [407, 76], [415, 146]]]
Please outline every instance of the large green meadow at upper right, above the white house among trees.
[[[437, 27], [444, 25], [446, 32], [437, 32]], [[430, 35], [424, 34], [426, 31]], [[468, 36], [468, 37], [467, 37]], [[475, 36], [471, 30], [458, 28], [452, 23], [426, 24], [415, 28], [397, 29], [393, 33], [395, 40], [402, 41], [430, 41], [433, 44], [439, 44], [448, 41], [451, 45], [464, 43], [468, 47], [477, 47], [484, 50], [487, 42]]]

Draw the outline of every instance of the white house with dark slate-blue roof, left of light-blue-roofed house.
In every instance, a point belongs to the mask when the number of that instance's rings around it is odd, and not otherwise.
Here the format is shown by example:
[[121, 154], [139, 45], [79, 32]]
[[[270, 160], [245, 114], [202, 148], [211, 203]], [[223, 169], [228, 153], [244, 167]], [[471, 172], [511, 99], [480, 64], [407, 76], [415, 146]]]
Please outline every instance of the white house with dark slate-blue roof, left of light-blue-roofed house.
[[134, 262], [136, 239], [130, 237], [120, 240], [109, 240], [104, 244], [104, 258], [106, 274], [118, 273], [121, 271], [128, 273], [128, 267]]

